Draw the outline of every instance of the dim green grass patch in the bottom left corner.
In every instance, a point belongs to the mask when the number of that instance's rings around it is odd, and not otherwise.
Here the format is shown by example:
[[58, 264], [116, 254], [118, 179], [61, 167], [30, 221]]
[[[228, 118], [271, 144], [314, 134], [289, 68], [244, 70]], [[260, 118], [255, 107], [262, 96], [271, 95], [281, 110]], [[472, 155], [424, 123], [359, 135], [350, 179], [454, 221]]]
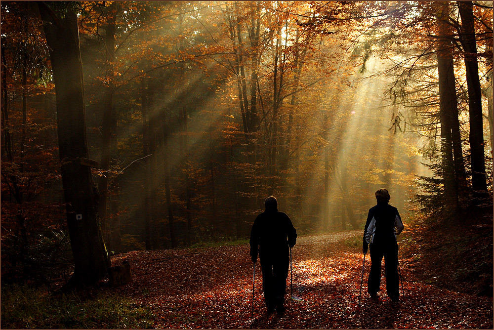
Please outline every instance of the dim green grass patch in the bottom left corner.
[[1, 329], [150, 329], [153, 315], [120, 295], [101, 289], [84, 298], [78, 293], [50, 295], [45, 288], [1, 288]]

